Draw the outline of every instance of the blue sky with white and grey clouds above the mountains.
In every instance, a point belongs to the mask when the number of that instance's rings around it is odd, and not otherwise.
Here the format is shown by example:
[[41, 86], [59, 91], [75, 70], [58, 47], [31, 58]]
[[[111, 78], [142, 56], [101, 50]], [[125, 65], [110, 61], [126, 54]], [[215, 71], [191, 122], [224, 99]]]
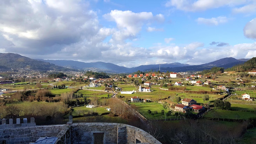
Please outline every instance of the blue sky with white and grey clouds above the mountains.
[[256, 0], [1, 0], [0, 53], [203, 64], [256, 56]]

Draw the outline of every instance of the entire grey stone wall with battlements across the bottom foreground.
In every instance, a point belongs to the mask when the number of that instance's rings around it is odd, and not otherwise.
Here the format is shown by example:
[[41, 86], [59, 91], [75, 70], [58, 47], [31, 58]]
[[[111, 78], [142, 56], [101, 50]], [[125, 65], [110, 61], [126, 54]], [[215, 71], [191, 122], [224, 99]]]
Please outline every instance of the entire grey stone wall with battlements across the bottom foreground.
[[[25, 121], [26, 122], [26, 121]], [[34, 119], [32, 118], [32, 122]], [[6, 124], [2, 121], [0, 144], [28, 144], [40, 137], [58, 137], [55, 144], [93, 144], [101, 139], [104, 144], [161, 144], [149, 133], [127, 124], [120, 123], [73, 123], [73, 117], [62, 125], [35, 126], [35, 123]], [[32, 125], [33, 124], [33, 125]], [[12, 126], [10, 126], [12, 125]], [[14, 125], [14, 126], [13, 126]]]

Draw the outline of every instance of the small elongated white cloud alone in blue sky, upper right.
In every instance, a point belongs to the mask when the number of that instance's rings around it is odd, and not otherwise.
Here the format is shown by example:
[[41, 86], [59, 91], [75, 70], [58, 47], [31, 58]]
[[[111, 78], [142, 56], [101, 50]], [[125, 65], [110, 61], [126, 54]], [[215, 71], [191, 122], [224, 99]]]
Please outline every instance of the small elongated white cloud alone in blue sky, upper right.
[[198, 18], [196, 21], [198, 23], [203, 23], [203, 24], [206, 24], [206, 25], [215, 25], [215, 26], [217, 26], [220, 23], [228, 22], [228, 19], [225, 16], [218, 16], [217, 18], [210, 18], [210, 19]]

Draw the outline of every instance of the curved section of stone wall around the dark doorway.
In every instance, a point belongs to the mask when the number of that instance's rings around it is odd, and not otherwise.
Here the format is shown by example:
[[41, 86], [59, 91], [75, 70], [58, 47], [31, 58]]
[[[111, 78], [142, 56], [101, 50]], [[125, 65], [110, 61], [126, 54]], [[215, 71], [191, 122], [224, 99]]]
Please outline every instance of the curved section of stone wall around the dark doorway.
[[135, 126], [120, 123], [74, 123], [72, 126], [72, 144], [93, 144], [93, 133], [104, 133], [104, 143], [134, 144], [136, 139], [141, 143], [161, 144], [153, 136]]

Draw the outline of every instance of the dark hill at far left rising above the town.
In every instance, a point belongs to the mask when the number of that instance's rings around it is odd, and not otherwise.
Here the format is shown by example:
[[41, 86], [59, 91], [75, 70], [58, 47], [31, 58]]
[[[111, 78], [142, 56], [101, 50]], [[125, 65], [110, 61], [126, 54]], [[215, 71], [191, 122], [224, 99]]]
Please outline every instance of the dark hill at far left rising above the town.
[[49, 62], [37, 61], [14, 53], [0, 53], [1, 70], [29, 68], [33, 70], [70, 70]]

